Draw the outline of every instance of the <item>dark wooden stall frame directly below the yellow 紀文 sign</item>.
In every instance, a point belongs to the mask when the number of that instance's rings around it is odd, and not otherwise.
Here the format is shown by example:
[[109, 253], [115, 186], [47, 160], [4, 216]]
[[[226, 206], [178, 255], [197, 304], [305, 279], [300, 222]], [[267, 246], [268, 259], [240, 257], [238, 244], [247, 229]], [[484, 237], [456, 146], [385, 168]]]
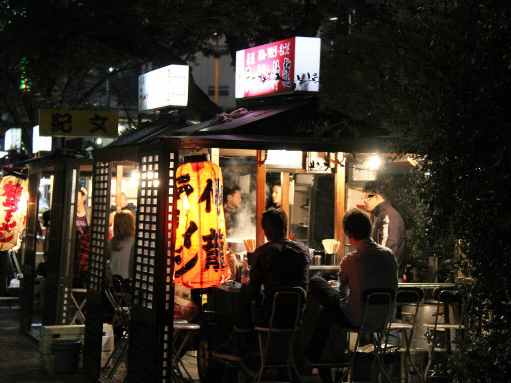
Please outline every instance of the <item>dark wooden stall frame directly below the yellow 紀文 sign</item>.
[[[70, 153], [54, 153], [17, 165], [28, 170], [29, 182], [20, 329], [38, 339], [41, 325], [69, 324], [75, 309], [71, 291], [77, 185], [90, 187], [92, 166], [90, 160]], [[46, 233], [49, 247], [43, 254], [41, 216], [48, 209], [52, 229]], [[44, 276], [36, 273], [42, 262], [47, 263]]]

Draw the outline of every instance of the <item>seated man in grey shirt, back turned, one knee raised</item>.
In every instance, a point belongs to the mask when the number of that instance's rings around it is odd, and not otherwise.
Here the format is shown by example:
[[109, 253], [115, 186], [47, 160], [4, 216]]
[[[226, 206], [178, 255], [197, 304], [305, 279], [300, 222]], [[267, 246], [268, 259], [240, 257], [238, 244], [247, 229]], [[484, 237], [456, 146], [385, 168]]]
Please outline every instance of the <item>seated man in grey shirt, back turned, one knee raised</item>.
[[[378, 245], [369, 236], [371, 223], [367, 215], [355, 208], [342, 219], [344, 233], [353, 251], [342, 258], [337, 274], [337, 290], [323, 278], [314, 276], [309, 281], [309, 293], [321, 304], [314, 333], [307, 348], [306, 358], [312, 363], [321, 359], [329, 338], [332, 323], [341, 327], [359, 327], [362, 324], [366, 289], [388, 288], [398, 291], [398, 262], [392, 250]], [[385, 308], [382, 308], [385, 311]], [[383, 314], [382, 314], [383, 315]], [[376, 325], [381, 317], [366, 318], [366, 324]], [[330, 370], [319, 371], [323, 382], [332, 381]]]

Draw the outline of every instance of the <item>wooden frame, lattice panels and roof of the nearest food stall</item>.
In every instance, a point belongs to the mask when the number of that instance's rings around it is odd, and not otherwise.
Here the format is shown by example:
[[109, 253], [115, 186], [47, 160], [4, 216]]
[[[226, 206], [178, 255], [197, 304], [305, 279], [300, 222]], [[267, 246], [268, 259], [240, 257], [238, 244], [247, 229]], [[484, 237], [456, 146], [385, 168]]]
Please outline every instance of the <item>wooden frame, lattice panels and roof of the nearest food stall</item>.
[[[87, 318], [84, 363], [89, 374], [99, 371], [101, 354], [101, 289], [104, 289], [106, 266], [106, 213], [110, 193], [112, 169], [116, 161], [133, 161], [138, 164], [140, 183], [137, 195], [135, 262], [133, 279], [133, 304], [128, 353], [128, 379], [130, 381], [170, 380], [171, 342], [173, 324], [174, 266], [177, 225], [178, 181], [176, 171], [184, 156], [209, 154], [212, 162], [240, 160], [240, 167], [252, 166], [249, 192], [254, 192], [251, 237], [257, 246], [264, 244], [264, 232], [260, 226], [261, 214], [266, 209], [266, 178], [268, 151], [300, 152], [298, 168], [278, 167], [270, 169], [281, 179], [283, 189], [282, 208], [289, 214], [295, 204], [289, 201], [289, 189], [294, 187], [294, 176], [313, 174], [307, 156], [318, 153], [323, 156], [321, 169], [316, 174], [330, 174], [332, 200], [322, 202], [333, 214], [331, 235], [341, 242], [339, 255], [344, 253], [344, 234], [341, 227], [345, 210], [344, 153], [381, 150], [382, 139], [374, 136], [355, 138], [346, 134], [334, 140], [314, 138], [298, 133], [296, 127], [306, 121], [317, 121], [317, 100], [282, 99], [274, 105], [248, 110], [247, 113], [219, 123], [217, 119], [200, 125], [189, 126], [172, 133], [160, 131], [154, 134], [139, 133], [115, 147], [98, 149], [94, 153], [94, 176], [92, 187], [92, 231], [90, 262], [92, 280], [87, 293]], [[363, 127], [361, 127], [363, 128]], [[312, 159], [311, 159], [312, 160]], [[326, 165], [324, 163], [327, 163]], [[288, 166], [288, 164], [285, 164]], [[227, 168], [226, 168], [227, 169]], [[228, 172], [223, 170], [224, 177]], [[290, 177], [293, 174], [293, 177]], [[246, 177], [246, 174], [240, 175]], [[314, 178], [314, 177], [313, 177]], [[225, 181], [224, 181], [225, 184]], [[297, 192], [301, 193], [301, 192]], [[249, 196], [251, 194], [249, 193]], [[294, 197], [293, 197], [294, 198]], [[250, 198], [247, 198], [247, 203]], [[312, 200], [309, 200], [310, 202]], [[306, 210], [306, 208], [302, 209]], [[304, 218], [299, 221], [304, 223]], [[248, 221], [244, 222], [248, 225]], [[306, 235], [306, 234], [304, 234]], [[308, 235], [308, 234], [307, 234]], [[228, 238], [227, 238], [228, 239]], [[336, 260], [337, 262], [337, 260]], [[318, 266], [320, 269], [321, 266]], [[96, 306], [93, 306], [96, 305]]]

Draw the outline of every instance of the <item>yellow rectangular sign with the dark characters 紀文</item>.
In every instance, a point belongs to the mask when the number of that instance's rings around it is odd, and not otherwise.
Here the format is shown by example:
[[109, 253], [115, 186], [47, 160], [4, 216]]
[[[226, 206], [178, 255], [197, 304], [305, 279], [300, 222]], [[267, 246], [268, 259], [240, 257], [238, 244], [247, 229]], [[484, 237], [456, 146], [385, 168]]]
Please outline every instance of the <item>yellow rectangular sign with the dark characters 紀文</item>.
[[39, 109], [39, 135], [117, 137], [119, 111]]

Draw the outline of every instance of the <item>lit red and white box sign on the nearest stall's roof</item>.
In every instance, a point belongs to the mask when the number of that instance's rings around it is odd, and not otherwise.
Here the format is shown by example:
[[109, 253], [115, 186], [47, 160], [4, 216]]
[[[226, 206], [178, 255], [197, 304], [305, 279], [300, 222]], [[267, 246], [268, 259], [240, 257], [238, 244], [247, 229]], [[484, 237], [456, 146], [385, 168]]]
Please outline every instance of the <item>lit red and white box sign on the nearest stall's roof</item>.
[[320, 38], [293, 37], [236, 52], [236, 98], [317, 92], [320, 50]]

